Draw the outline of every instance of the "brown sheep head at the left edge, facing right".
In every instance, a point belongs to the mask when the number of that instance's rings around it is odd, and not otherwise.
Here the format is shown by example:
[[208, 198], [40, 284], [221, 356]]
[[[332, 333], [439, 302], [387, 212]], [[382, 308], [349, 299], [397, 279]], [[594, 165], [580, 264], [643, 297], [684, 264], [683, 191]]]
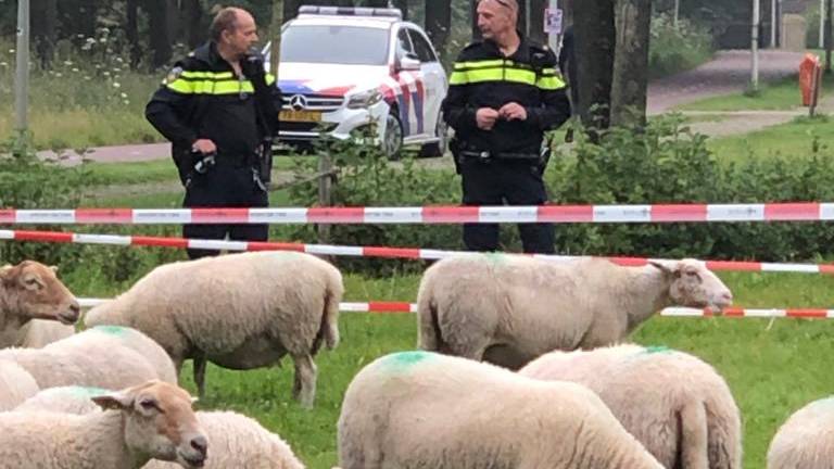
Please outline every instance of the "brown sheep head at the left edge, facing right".
[[56, 271], [58, 267], [35, 261], [0, 267], [0, 319], [14, 317], [18, 324], [30, 319], [65, 325], [77, 321], [81, 310], [78, 301], [58, 279]]

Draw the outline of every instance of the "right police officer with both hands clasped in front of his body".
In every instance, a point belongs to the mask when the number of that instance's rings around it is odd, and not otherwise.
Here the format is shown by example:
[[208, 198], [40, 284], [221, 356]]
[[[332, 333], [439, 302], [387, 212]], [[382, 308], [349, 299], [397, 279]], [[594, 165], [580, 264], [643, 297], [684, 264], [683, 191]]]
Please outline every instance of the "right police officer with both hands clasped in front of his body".
[[[556, 56], [516, 29], [516, 0], [478, 2], [483, 41], [458, 55], [443, 103], [455, 129], [452, 152], [465, 205], [540, 205], [547, 201], [542, 173], [549, 154], [544, 132], [570, 116]], [[551, 224], [519, 225], [525, 252], [553, 253]], [[498, 248], [497, 225], [464, 225], [471, 251]]]

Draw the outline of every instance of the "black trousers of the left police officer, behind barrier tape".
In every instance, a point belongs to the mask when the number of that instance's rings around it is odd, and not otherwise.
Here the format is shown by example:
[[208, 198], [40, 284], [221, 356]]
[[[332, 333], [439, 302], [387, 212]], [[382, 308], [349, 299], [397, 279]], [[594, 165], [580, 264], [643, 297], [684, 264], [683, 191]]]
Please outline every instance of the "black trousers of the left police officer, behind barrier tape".
[[[198, 175], [186, 189], [185, 207], [266, 207], [267, 192], [252, 178], [250, 167], [218, 164], [207, 174]], [[184, 225], [182, 237], [222, 240], [228, 234], [233, 241], [266, 241], [269, 225]], [[216, 250], [189, 249], [191, 259], [219, 254]]]

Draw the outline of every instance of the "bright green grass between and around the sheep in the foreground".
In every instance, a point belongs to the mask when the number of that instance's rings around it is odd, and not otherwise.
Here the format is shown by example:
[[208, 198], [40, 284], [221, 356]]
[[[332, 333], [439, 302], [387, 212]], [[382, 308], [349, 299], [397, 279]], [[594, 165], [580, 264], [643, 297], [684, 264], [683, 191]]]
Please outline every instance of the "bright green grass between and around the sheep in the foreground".
[[[834, 279], [805, 275], [725, 274], [736, 303], [751, 307], [834, 305]], [[414, 301], [419, 278], [367, 279], [345, 276], [345, 301]], [[88, 293], [88, 292], [80, 292]], [[96, 292], [93, 292], [96, 293]], [[712, 364], [728, 380], [744, 421], [745, 467], [764, 467], [770, 439], [784, 419], [806, 403], [834, 390], [827, 372], [834, 324], [778, 319], [654, 318], [635, 332], [644, 345], [690, 352]], [[342, 343], [316, 359], [316, 407], [300, 408], [291, 398], [292, 364], [282, 368], [230, 371], [210, 367], [207, 396], [198, 407], [231, 408], [260, 420], [287, 440], [311, 469], [337, 462], [336, 423], [352, 377], [375, 358], [414, 348], [413, 315], [342, 314]], [[190, 369], [182, 383], [194, 392]]]

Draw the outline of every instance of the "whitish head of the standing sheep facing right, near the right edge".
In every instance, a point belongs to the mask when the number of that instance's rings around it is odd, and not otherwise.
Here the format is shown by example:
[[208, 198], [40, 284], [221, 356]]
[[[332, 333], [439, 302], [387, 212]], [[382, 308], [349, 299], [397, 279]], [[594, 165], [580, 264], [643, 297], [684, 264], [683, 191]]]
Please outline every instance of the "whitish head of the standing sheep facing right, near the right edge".
[[733, 303], [730, 289], [700, 261], [652, 261], [650, 264], [669, 277], [669, 297], [677, 306], [718, 313]]

